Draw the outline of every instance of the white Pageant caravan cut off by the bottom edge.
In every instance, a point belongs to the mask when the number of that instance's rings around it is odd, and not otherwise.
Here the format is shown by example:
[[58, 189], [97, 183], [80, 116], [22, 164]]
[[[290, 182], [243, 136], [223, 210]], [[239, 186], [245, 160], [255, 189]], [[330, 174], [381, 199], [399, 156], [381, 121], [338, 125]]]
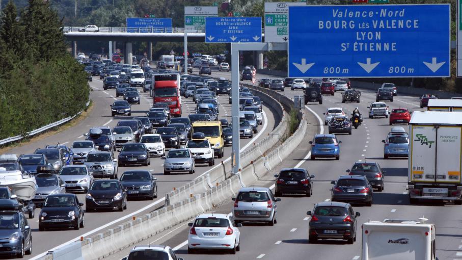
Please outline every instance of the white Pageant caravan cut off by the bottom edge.
[[362, 260], [438, 260], [433, 224], [420, 221], [369, 221], [362, 225]]

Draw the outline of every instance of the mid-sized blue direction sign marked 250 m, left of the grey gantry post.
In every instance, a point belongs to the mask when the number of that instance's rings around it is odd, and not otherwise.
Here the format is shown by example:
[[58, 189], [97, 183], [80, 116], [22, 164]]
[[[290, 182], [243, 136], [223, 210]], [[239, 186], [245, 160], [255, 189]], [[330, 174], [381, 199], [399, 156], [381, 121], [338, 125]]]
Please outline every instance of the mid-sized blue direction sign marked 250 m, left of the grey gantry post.
[[205, 42], [261, 42], [261, 17], [205, 17]]

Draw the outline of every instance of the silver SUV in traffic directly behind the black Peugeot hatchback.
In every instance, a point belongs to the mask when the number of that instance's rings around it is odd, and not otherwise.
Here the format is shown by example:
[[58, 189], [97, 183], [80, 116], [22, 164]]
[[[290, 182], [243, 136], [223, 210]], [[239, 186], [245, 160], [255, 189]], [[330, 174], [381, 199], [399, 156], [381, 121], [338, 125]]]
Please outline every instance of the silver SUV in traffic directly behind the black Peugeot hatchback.
[[111, 152], [94, 151], [87, 155], [85, 165], [90, 169], [93, 177], [110, 177], [117, 179], [117, 159], [114, 159]]

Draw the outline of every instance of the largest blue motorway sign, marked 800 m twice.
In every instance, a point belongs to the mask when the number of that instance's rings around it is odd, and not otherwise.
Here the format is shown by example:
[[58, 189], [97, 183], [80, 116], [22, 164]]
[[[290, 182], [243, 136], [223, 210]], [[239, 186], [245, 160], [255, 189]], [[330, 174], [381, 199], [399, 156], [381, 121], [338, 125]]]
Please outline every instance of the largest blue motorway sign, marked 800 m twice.
[[290, 77], [450, 75], [449, 5], [289, 7]]

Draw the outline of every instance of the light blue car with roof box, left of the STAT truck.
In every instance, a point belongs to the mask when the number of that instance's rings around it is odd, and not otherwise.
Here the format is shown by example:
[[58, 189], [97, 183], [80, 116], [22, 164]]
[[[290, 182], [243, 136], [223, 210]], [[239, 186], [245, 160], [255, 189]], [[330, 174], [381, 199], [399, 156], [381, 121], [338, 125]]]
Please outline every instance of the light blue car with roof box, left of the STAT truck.
[[[393, 127], [384, 143], [384, 159], [389, 157], [409, 157], [409, 135], [402, 127]], [[399, 130], [399, 131], [398, 131]]]

